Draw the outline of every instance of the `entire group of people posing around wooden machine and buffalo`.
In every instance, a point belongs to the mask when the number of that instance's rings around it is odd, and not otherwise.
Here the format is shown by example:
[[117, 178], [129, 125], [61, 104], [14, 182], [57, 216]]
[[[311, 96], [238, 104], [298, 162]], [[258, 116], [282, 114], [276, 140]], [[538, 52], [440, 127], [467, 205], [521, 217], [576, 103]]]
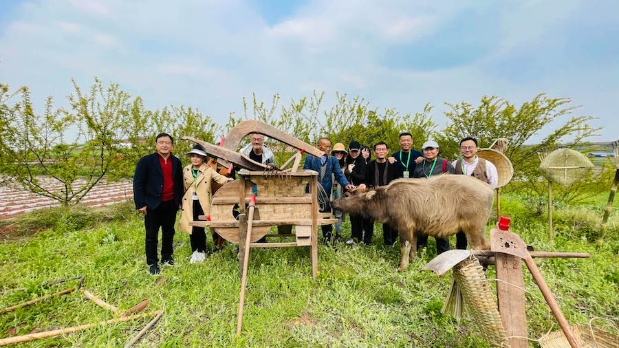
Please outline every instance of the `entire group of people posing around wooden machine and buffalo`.
[[[223, 185], [234, 180], [234, 173], [222, 175], [217, 171], [217, 162], [209, 160], [201, 146], [196, 145], [188, 155], [191, 164], [182, 166], [178, 157], [172, 154], [174, 140], [171, 135], [161, 133], [155, 138], [155, 152], [140, 159], [135, 167], [133, 177], [133, 200], [135, 208], [144, 214], [146, 230], [145, 250], [146, 263], [152, 275], [160, 273], [157, 252], [158, 232], [162, 230], [161, 263], [173, 265], [173, 237], [177, 210], [182, 210], [179, 228], [190, 235], [191, 263], [199, 263], [206, 258], [206, 231], [204, 228], [189, 226], [189, 221], [199, 215], [208, 215], [212, 197], [212, 185]], [[371, 151], [369, 146], [361, 146], [353, 141], [348, 150], [342, 143], [331, 147], [327, 138], [318, 140], [316, 147], [325, 154], [322, 157], [307, 155], [303, 169], [311, 169], [318, 173], [318, 182], [331, 199], [337, 199], [346, 191], [360, 187], [371, 188], [384, 186], [398, 178], [424, 178], [443, 173], [473, 175], [479, 180], [497, 186], [497, 168], [489, 161], [477, 157], [477, 140], [464, 138], [460, 141], [461, 158], [449, 162], [438, 157], [439, 144], [430, 140], [423, 144], [422, 152], [412, 149], [411, 133], [400, 134], [400, 150], [389, 155], [389, 145], [377, 142]], [[264, 144], [264, 137], [259, 133], [250, 135], [250, 144], [241, 150], [243, 155], [261, 164], [276, 165], [274, 153]], [[371, 160], [373, 153], [375, 160]], [[223, 173], [224, 171], [222, 171]], [[257, 194], [254, 188], [254, 195]], [[332, 208], [325, 204], [322, 213], [331, 213]], [[332, 225], [321, 226], [323, 241], [334, 243], [342, 240], [342, 221], [344, 216], [337, 210], [332, 212], [339, 220], [335, 224], [335, 235]], [[348, 244], [371, 244], [374, 221], [360, 215], [350, 217], [351, 237]], [[292, 226], [279, 226], [280, 232], [290, 230]], [[398, 231], [383, 224], [383, 243], [385, 246], [395, 245]], [[217, 251], [217, 233], [213, 234]], [[417, 248], [427, 245], [427, 236], [417, 238]], [[261, 241], [264, 241], [262, 239]], [[449, 242], [437, 239], [437, 252], [449, 250]], [[464, 233], [457, 235], [456, 247], [466, 248]]]

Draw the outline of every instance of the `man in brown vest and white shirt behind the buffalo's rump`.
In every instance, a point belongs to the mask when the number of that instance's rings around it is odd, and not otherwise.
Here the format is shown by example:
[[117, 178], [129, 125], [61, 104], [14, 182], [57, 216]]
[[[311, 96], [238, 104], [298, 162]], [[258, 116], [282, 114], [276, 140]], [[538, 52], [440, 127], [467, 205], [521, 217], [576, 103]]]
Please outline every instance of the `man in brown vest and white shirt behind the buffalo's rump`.
[[[462, 158], [453, 162], [454, 174], [470, 175], [477, 179], [487, 182], [492, 188], [497, 188], [499, 173], [497, 167], [492, 162], [479, 158], [477, 153], [477, 139], [464, 138], [460, 140], [460, 155]], [[456, 248], [466, 249], [466, 235], [458, 232], [456, 235]]]

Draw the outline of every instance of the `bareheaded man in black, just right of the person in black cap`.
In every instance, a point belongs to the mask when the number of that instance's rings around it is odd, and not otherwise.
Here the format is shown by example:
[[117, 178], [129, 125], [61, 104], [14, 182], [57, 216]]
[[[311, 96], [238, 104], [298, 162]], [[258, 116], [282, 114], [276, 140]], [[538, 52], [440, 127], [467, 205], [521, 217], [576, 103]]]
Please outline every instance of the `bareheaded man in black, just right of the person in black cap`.
[[[378, 187], [389, 184], [398, 177], [398, 167], [395, 163], [387, 161], [387, 153], [389, 153], [389, 145], [386, 142], [377, 142], [373, 148], [376, 160], [367, 164], [365, 168], [365, 186]], [[361, 186], [362, 187], [362, 186]], [[373, 234], [374, 221], [371, 221], [369, 239]], [[368, 230], [365, 231], [368, 234]], [[391, 228], [388, 224], [382, 224], [382, 241], [384, 246], [393, 246], [398, 240], [398, 231]], [[364, 238], [364, 241], [367, 241]]]

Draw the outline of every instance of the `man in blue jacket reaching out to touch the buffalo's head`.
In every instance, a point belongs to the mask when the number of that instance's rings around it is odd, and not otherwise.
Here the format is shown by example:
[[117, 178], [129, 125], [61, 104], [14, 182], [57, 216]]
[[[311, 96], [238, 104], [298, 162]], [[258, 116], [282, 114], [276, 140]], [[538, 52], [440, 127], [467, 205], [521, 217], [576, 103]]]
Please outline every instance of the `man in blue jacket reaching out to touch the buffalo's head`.
[[[307, 155], [307, 157], [305, 157], [305, 162], [303, 163], [303, 169], [311, 169], [312, 171], [318, 172], [318, 183], [323, 186], [327, 195], [331, 192], [333, 175], [345, 189], [350, 190], [354, 188], [355, 186], [352, 186], [350, 182], [346, 180], [344, 173], [342, 173], [338, 159], [328, 155], [329, 151], [331, 151], [331, 141], [327, 138], [320, 138], [318, 140], [318, 144], [316, 144], [316, 147], [319, 150], [324, 151], [325, 154], [320, 158]], [[327, 199], [325, 207], [321, 210], [321, 213], [330, 212], [331, 202]], [[333, 226], [323, 225], [321, 226], [321, 229], [323, 230], [323, 238], [325, 243], [332, 243]]]

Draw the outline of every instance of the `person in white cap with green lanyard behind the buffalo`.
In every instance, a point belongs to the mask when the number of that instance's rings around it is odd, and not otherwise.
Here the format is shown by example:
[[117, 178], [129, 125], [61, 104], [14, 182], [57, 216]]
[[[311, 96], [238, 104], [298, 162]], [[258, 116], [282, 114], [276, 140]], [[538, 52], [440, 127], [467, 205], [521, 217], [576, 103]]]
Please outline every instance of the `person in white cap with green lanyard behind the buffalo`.
[[[433, 175], [441, 175], [443, 173], [453, 174], [453, 166], [451, 162], [445, 160], [442, 157], [438, 157], [439, 147], [438, 143], [434, 140], [424, 142], [422, 146], [424, 153], [424, 162], [415, 166], [413, 177], [425, 178]], [[436, 239], [436, 254], [442, 254], [449, 250], [449, 239], [435, 238]], [[428, 246], [428, 235], [417, 235], [417, 250], [426, 248]]]

